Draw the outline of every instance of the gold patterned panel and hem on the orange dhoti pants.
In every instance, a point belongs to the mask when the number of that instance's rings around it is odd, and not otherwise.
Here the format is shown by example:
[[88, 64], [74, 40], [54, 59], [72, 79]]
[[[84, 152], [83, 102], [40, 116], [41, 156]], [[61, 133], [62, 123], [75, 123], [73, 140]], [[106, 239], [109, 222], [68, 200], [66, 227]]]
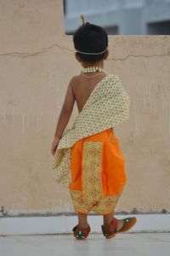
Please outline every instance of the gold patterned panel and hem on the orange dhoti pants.
[[84, 142], [82, 154], [82, 191], [70, 189], [76, 212], [100, 214], [113, 212], [119, 195], [102, 195], [102, 142]]

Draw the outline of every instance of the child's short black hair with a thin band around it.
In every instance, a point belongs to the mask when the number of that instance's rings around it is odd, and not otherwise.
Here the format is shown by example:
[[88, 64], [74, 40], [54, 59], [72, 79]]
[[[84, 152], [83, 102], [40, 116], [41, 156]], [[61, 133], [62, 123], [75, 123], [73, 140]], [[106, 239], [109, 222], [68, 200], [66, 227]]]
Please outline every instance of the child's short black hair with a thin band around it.
[[[86, 22], [79, 26], [73, 34], [73, 43], [77, 50], [98, 53], [108, 47], [108, 35], [103, 27]], [[104, 59], [105, 52], [99, 55], [86, 55], [77, 52], [77, 55], [80, 56], [82, 61], [96, 62]]]

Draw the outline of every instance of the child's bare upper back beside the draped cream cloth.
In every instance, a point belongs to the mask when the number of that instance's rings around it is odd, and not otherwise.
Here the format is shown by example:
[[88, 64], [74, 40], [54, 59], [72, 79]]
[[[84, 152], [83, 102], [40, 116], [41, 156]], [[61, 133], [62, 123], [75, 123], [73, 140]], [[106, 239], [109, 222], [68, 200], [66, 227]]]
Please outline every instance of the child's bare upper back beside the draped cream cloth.
[[[95, 74], [98, 74], [98, 73], [93, 73], [93, 75]], [[74, 92], [74, 96], [76, 98], [77, 108], [79, 113], [82, 111], [82, 108], [84, 107], [85, 103], [88, 100], [88, 97], [91, 95], [92, 91], [94, 90], [95, 85], [99, 84], [99, 81], [104, 79], [106, 76], [107, 74], [105, 73], [93, 79], [86, 79], [82, 77], [82, 75], [76, 76], [76, 79], [74, 79], [74, 83], [72, 84], [72, 89]]]

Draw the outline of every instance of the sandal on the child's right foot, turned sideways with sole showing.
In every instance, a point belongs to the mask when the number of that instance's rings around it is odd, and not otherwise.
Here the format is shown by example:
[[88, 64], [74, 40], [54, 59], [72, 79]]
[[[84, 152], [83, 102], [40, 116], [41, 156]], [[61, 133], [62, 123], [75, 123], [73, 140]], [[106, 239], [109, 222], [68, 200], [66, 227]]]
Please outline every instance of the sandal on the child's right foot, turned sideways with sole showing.
[[122, 218], [122, 220], [123, 224], [120, 230], [116, 230], [118, 219], [115, 217], [111, 220], [111, 223], [107, 226], [106, 229], [104, 229], [104, 225], [101, 226], [103, 235], [106, 239], [110, 239], [111, 237], [116, 236], [116, 234], [118, 233], [130, 230], [133, 227], [133, 225], [137, 222], [137, 219], [135, 217]]

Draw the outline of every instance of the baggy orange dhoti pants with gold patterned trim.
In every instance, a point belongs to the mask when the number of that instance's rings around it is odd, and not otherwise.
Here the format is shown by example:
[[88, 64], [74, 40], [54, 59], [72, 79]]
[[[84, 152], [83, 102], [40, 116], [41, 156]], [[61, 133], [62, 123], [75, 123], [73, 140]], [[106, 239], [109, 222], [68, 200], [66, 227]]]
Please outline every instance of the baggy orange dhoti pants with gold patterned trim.
[[114, 211], [127, 181], [125, 159], [111, 128], [84, 137], [71, 147], [68, 188], [76, 212]]

